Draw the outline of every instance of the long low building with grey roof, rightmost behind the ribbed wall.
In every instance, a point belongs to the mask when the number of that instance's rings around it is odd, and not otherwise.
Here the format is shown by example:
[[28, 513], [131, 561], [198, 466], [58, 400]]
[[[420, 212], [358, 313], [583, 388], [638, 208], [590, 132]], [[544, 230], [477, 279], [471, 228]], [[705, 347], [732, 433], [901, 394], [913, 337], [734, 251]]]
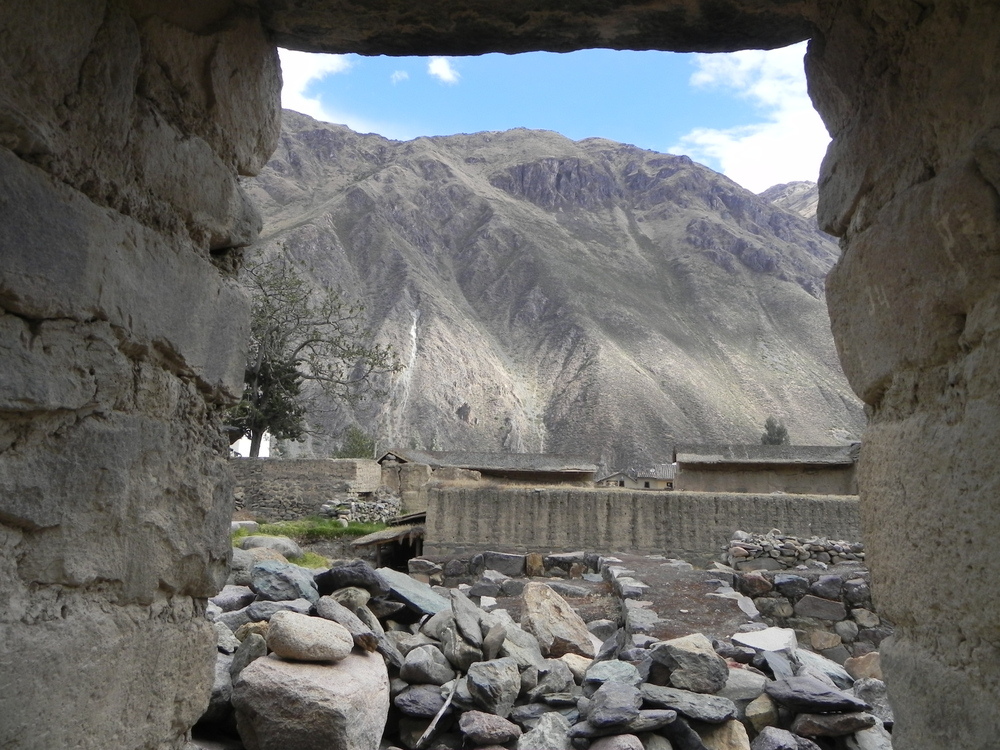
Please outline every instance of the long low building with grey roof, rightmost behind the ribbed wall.
[[856, 495], [860, 443], [678, 445], [674, 488], [691, 492]]

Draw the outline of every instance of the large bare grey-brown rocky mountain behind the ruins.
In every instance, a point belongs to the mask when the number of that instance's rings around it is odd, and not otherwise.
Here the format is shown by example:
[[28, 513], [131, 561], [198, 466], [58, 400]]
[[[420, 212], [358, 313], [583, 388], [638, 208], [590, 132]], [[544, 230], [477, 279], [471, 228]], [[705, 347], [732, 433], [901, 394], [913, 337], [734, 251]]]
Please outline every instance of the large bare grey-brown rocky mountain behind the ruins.
[[403, 369], [313, 413], [381, 447], [670, 459], [856, 437], [823, 298], [837, 245], [685, 156], [512, 130], [409, 142], [285, 112], [252, 182], [266, 252], [362, 298]]

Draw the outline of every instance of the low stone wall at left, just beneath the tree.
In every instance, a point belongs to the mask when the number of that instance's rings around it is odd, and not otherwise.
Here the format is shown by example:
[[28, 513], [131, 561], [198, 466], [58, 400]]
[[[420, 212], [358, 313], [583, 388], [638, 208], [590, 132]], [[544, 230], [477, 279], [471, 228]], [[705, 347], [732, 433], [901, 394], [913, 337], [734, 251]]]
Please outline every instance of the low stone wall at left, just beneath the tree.
[[262, 521], [318, 515], [325, 503], [374, 492], [382, 482], [381, 467], [361, 458], [236, 458], [230, 465], [237, 502]]

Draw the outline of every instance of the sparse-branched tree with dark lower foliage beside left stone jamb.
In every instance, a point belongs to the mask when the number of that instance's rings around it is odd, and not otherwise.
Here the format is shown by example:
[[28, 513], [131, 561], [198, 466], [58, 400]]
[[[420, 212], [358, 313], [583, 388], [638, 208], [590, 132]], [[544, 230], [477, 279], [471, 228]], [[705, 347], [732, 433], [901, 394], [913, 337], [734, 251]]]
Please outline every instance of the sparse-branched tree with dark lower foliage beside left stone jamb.
[[303, 385], [352, 401], [377, 392], [373, 375], [399, 365], [392, 348], [372, 340], [364, 308], [338, 291], [311, 289], [283, 259], [250, 262], [243, 278], [253, 297], [243, 398], [227, 415], [260, 455], [265, 432], [294, 440], [306, 432]]

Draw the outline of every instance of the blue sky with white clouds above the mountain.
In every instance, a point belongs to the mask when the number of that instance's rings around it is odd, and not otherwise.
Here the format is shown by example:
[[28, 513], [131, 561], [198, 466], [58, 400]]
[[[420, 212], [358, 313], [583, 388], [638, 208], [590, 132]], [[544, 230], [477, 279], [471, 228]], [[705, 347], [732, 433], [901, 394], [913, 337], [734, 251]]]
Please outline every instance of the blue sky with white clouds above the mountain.
[[515, 127], [684, 153], [759, 192], [816, 180], [829, 142], [805, 45], [722, 55], [586, 50], [362, 57], [281, 50], [289, 109], [408, 140]]

